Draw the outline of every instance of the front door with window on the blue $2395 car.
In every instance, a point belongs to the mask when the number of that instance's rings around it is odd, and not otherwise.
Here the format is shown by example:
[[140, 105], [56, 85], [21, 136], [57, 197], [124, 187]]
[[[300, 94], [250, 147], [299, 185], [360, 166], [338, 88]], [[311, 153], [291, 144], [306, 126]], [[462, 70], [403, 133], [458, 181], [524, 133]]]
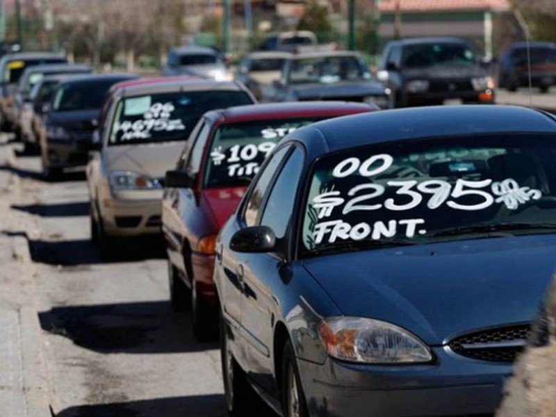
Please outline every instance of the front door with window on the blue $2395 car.
[[286, 152], [284, 162], [275, 169], [272, 182], [266, 187], [261, 204], [254, 205], [255, 223], [270, 227], [279, 245], [274, 252], [247, 254], [243, 264], [241, 327], [248, 363], [245, 370], [270, 392], [277, 389], [273, 377], [272, 340], [275, 318], [281, 315], [281, 306], [276, 294], [278, 287], [284, 285], [284, 271], [288, 268], [286, 234], [304, 163], [301, 147], [290, 146]]

